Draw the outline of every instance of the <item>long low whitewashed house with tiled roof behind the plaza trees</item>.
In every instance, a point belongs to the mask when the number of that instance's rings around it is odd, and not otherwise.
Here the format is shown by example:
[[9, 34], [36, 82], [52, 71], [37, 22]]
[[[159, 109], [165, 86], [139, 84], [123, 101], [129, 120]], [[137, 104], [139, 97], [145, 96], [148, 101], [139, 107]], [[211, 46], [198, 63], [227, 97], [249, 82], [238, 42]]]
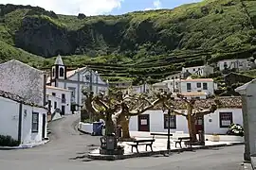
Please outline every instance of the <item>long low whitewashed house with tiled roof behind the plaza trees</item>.
[[[196, 129], [205, 129], [206, 134], [226, 134], [229, 125], [232, 123], [243, 125], [242, 102], [240, 97], [223, 97], [220, 98], [221, 107], [213, 113], [204, 116], [204, 127], [202, 119], [196, 121]], [[196, 107], [206, 108], [213, 103], [213, 99], [197, 100]], [[175, 100], [174, 110], [185, 110], [186, 105], [180, 100]], [[131, 131], [151, 131], [167, 132], [168, 114], [167, 110], [163, 112], [160, 108], [157, 110], [147, 110], [141, 115], [133, 116], [130, 120], [129, 128]], [[184, 116], [171, 116], [171, 132], [183, 131], [188, 133], [188, 122]]]

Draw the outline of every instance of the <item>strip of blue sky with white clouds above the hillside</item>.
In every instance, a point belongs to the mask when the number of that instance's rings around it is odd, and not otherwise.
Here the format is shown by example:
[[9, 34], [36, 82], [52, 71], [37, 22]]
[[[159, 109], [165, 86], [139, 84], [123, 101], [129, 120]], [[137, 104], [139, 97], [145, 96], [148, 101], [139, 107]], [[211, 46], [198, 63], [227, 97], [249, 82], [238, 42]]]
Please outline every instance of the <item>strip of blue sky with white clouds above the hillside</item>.
[[0, 4], [39, 6], [68, 15], [117, 15], [136, 10], [175, 8], [199, 1], [201, 0], [0, 0]]

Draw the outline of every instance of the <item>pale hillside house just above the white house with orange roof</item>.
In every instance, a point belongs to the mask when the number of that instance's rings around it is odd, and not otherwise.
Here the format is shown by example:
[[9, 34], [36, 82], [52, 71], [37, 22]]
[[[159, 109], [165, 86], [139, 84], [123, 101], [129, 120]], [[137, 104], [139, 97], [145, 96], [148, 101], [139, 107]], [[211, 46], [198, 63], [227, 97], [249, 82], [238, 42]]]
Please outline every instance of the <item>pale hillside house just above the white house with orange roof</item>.
[[202, 65], [202, 66], [195, 66], [195, 67], [182, 67], [181, 73], [191, 73], [192, 75], [198, 76], [209, 76], [213, 73], [213, 67], [210, 65]]

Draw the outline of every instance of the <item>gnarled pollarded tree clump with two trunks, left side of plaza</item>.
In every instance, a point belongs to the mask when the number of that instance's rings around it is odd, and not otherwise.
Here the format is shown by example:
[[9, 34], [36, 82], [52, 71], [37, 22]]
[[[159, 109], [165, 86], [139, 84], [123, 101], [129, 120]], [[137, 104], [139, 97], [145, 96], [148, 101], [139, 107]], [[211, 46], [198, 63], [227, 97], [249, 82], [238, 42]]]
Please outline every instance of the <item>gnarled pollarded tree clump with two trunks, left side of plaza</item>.
[[[83, 92], [86, 94], [87, 92]], [[84, 107], [105, 120], [106, 134], [116, 131], [116, 127], [122, 127], [122, 138], [131, 138], [129, 122], [132, 116], [142, 114], [146, 110], [153, 109], [156, 105], [171, 98], [171, 93], [123, 93], [110, 90], [107, 95], [102, 93], [86, 99]]]

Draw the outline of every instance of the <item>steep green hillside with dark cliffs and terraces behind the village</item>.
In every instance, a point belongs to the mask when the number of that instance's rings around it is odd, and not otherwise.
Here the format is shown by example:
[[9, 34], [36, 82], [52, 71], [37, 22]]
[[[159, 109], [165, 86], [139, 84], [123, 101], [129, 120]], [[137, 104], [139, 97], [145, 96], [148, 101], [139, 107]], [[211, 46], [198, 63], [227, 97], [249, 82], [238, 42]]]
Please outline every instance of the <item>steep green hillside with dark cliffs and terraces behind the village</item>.
[[61, 54], [69, 67], [89, 65], [111, 81], [156, 81], [205, 60], [251, 57], [255, 27], [256, 0], [92, 17], [0, 5], [0, 59], [46, 68]]

